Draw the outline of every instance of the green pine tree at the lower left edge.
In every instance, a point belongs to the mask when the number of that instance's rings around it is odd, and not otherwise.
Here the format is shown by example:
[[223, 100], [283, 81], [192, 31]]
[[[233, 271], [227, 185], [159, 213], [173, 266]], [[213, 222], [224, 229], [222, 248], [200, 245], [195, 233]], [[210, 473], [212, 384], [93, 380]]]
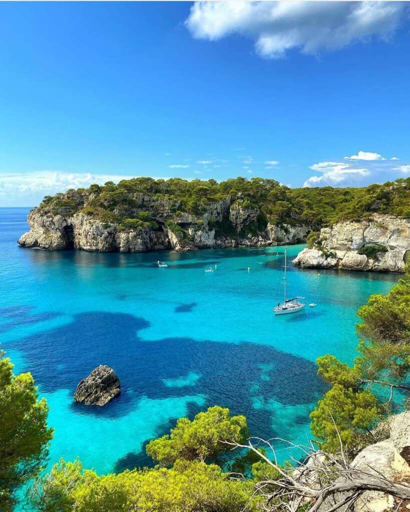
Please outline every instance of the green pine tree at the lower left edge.
[[30, 373], [13, 375], [0, 353], [0, 509], [11, 510], [17, 489], [42, 469], [52, 438], [48, 407]]

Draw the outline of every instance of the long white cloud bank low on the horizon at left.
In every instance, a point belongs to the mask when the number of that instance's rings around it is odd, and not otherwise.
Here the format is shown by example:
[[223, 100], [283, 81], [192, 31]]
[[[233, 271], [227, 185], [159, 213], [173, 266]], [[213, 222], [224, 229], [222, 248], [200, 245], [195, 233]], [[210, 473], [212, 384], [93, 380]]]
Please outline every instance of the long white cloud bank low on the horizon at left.
[[1, 173], [0, 202], [2, 206], [35, 206], [47, 195], [65, 192], [69, 188], [88, 187], [92, 183], [103, 185], [106, 181], [118, 183], [135, 176], [62, 173], [54, 170], [30, 173]]

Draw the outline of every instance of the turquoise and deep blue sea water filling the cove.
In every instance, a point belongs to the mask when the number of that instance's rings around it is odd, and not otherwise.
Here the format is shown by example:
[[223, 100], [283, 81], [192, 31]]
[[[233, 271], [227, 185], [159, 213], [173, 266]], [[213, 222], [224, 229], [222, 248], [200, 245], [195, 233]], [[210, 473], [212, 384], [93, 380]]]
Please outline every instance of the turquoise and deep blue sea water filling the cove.
[[[317, 306], [275, 317], [283, 257], [273, 253], [283, 247], [30, 250], [16, 244], [27, 213], [0, 208], [2, 348], [16, 372], [33, 373], [48, 400], [50, 464], [79, 456], [98, 473], [148, 464], [147, 440], [214, 404], [246, 415], [253, 435], [304, 442], [309, 412], [325, 390], [315, 359], [332, 353], [352, 361], [358, 307], [397, 280], [290, 265], [290, 294]], [[290, 259], [302, 247], [289, 246]], [[157, 260], [169, 267], [157, 268]], [[117, 372], [120, 397], [104, 408], [75, 404], [77, 382], [99, 364]], [[280, 447], [278, 455], [289, 452]]]

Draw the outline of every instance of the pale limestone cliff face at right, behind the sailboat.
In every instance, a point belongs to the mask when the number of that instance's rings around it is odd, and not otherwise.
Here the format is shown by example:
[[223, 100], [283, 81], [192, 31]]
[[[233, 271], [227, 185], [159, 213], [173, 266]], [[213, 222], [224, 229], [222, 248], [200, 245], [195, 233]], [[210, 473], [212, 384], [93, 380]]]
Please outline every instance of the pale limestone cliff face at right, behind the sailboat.
[[312, 249], [303, 249], [293, 264], [311, 268], [340, 268], [403, 272], [410, 253], [410, 220], [374, 214], [320, 231]]

